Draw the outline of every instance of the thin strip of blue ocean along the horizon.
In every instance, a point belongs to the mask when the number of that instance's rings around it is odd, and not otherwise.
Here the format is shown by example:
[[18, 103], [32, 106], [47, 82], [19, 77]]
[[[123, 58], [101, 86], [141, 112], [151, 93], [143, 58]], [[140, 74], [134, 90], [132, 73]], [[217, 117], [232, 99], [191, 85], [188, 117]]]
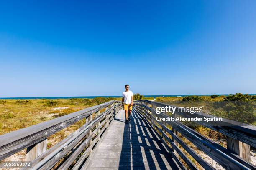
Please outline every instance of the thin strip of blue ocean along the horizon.
[[[227, 96], [228, 94], [219, 94]], [[256, 95], [256, 94], [248, 94]], [[144, 97], [177, 97], [177, 96], [192, 96], [192, 95], [144, 95]], [[197, 95], [197, 96], [210, 96], [210, 95]], [[88, 98], [93, 99], [95, 97], [122, 97], [122, 96], [66, 96], [66, 97], [0, 97], [0, 99], [71, 99], [71, 98]]]

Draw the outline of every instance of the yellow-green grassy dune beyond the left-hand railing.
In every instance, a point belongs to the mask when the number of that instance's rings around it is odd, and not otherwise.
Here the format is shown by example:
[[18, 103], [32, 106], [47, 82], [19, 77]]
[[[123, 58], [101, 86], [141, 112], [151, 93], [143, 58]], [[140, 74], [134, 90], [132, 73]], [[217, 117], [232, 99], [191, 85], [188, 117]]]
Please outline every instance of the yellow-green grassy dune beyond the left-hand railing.
[[121, 100], [121, 98], [0, 100], [0, 135], [109, 100]]

